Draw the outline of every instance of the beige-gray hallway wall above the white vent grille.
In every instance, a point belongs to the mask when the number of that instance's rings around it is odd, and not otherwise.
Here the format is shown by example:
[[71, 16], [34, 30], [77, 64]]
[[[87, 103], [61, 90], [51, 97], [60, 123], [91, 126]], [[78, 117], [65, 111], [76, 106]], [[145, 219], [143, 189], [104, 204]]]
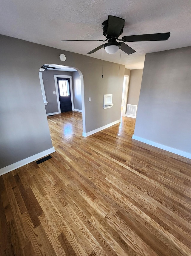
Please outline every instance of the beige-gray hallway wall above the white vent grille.
[[132, 69], [129, 81], [127, 104], [138, 105], [143, 69]]

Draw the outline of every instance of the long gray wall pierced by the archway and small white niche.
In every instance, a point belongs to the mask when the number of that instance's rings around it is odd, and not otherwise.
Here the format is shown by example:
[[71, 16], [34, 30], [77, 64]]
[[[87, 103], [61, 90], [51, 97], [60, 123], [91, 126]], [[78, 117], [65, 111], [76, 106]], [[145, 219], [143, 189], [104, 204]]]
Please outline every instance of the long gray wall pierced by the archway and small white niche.
[[[39, 81], [43, 64], [76, 67], [82, 79], [84, 132], [120, 119], [124, 65], [118, 77], [118, 64], [73, 52], [0, 36], [0, 168], [52, 147]], [[103, 109], [104, 94], [113, 94], [114, 106]], [[88, 101], [91, 97], [91, 101]]]

